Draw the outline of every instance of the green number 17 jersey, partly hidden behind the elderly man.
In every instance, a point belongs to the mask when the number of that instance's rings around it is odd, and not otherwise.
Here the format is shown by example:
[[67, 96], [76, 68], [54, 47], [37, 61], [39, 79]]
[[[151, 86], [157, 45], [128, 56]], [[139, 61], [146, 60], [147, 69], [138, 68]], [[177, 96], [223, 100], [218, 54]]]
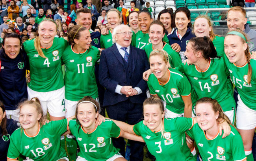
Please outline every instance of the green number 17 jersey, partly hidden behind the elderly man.
[[[134, 41], [134, 39], [133, 39], [132, 41]], [[135, 47], [137, 47], [137, 48], [139, 48], [139, 49], [143, 49], [143, 50], [145, 50], [146, 45], [148, 45], [148, 44], [151, 43], [151, 40], [150, 40], [150, 38], [149, 38], [148, 33], [147, 33], [147, 34], [144, 34], [142, 31], [138, 31], [138, 32], [136, 33], [136, 39], [135, 39], [135, 41], [136, 41]], [[166, 42], [167, 44], [169, 44], [169, 40], [168, 40], [168, 38], [167, 38], [166, 35], [163, 37], [163, 42]], [[134, 42], [133, 42], [133, 43], [134, 43]]]

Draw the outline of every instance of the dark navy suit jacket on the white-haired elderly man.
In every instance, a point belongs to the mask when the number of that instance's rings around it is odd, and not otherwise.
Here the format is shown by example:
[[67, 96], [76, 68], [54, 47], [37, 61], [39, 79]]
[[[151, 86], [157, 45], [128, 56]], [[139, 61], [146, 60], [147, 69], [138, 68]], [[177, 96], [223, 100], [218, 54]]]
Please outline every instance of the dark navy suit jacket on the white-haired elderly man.
[[[99, 79], [100, 84], [106, 88], [104, 95], [104, 106], [115, 105], [121, 101], [130, 99], [132, 103], [143, 103], [148, 88], [147, 82], [142, 79], [144, 71], [149, 69], [147, 55], [144, 50], [138, 49], [130, 45], [130, 53], [132, 53], [132, 79], [131, 84], [126, 81], [126, 73], [124, 62], [119, 53], [116, 44], [104, 49], [100, 56]], [[115, 93], [117, 85], [130, 85], [133, 88], [139, 87], [142, 94], [126, 97], [124, 94]]]

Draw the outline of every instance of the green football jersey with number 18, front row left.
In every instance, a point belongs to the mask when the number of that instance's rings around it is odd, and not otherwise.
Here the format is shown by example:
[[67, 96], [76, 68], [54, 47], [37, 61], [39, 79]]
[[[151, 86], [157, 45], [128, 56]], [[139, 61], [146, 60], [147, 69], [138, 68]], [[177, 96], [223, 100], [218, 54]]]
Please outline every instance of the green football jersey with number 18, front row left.
[[34, 161], [56, 161], [67, 157], [65, 149], [60, 147], [60, 136], [67, 129], [67, 119], [46, 123], [35, 136], [28, 136], [26, 130], [18, 128], [11, 135], [7, 158], [16, 159], [21, 154]]

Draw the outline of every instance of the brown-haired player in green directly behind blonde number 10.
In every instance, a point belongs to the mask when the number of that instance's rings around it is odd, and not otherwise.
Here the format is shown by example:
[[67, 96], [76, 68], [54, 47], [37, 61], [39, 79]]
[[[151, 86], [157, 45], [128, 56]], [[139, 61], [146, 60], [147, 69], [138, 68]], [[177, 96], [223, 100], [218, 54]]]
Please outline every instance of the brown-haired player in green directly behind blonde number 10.
[[169, 62], [172, 68], [178, 67], [182, 63], [180, 54], [174, 51], [168, 43], [163, 42], [163, 37], [165, 36], [165, 27], [160, 21], [156, 20], [150, 24], [148, 35], [151, 41], [151, 43], [145, 47], [148, 58], [150, 52], [152, 52], [154, 49], [163, 49], [169, 55]]

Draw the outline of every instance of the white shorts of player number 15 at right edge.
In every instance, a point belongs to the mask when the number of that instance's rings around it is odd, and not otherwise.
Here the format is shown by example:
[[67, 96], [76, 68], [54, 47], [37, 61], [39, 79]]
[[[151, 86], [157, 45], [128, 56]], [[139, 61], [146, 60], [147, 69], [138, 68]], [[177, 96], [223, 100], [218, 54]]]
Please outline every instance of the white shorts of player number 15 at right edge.
[[251, 130], [256, 127], [256, 111], [247, 107], [238, 94], [236, 127], [241, 130]]

